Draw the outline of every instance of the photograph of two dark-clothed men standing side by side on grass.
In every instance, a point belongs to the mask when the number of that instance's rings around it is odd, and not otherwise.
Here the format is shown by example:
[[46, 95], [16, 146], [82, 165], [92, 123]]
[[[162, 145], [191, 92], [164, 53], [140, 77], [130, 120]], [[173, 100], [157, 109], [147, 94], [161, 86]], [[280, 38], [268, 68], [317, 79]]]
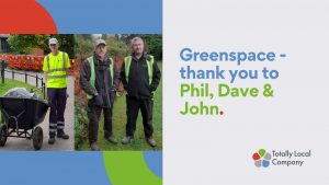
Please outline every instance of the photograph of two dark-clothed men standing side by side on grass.
[[162, 150], [162, 35], [75, 39], [76, 150]]

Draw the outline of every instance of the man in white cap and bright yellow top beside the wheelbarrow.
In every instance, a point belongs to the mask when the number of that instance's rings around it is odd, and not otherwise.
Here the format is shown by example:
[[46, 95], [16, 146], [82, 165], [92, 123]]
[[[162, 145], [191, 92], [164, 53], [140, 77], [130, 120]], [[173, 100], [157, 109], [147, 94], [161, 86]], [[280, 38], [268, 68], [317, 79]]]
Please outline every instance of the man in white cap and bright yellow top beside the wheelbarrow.
[[55, 137], [69, 139], [64, 132], [65, 119], [64, 113], [67, 100], [67, 76], [70, 68], [69, 56], [65, 51], [58, 50], [59, 44], [56, 38], [49, 39], [52, 53], [44, 59], [43, 71], [47, 82], [47, 96], [50, 107], [49, 114], [49, 140], [48, 143], [55, 143]]

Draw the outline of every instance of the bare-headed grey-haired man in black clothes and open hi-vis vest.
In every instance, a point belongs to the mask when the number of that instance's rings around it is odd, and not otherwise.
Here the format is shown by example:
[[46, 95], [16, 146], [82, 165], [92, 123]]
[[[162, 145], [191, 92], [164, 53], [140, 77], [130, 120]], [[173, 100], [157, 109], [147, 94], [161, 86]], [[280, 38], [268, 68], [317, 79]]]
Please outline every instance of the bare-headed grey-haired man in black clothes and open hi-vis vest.
[[146, 141], [151, 147], [156, 147], [157, 143], [152, 138], [152, 99], [159, 85], [161, 72], [154, 56], [145, 53], [144, 41], [140, 37], [132, 39], [131, 49], [132, 55], [125, 57], [121, 70], [121, 80], [127, 91], [126, 136], [123, 138], [122, 143], [126, 144], [133, 139], [140, 109]]

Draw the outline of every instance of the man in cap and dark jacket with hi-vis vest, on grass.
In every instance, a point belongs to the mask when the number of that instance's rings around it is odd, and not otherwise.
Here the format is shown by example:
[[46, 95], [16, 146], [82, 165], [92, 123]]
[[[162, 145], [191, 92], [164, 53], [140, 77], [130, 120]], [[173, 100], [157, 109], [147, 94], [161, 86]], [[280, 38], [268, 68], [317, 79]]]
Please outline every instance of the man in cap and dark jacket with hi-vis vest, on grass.
[[80, 71], [80, 86], [88, 97], [89, 143], [90, 150], [100, 150], [98, 146], [99, 118], [104, 114], [104, 138], [117, 143], [112, 134], [112, 111], [118, 73], [115, 71], [113, 59], [106, 53], [103, 39], [95, 42], [94, 55], [89, 57]]

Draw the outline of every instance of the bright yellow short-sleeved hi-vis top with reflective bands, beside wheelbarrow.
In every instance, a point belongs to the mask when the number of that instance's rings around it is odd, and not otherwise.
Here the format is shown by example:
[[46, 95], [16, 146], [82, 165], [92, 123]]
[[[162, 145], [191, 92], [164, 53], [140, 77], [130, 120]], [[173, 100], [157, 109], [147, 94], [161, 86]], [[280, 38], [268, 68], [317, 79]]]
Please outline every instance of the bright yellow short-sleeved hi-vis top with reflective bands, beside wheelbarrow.
[[58, 51], [56, 56], [52, 53], [44, 59], [43, 71], [46, 73], [47, 88], [67, 88], [67, 70], [70, 68], [69, 56]]

